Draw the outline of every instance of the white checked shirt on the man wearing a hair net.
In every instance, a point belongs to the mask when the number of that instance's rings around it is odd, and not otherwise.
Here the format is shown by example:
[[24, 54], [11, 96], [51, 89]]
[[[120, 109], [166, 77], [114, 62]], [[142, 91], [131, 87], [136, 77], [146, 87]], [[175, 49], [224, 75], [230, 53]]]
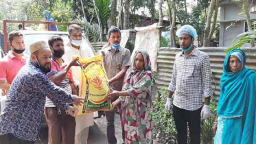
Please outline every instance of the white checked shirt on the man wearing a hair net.
[[211, 67], [207, 53], [194, 48], [189, 56], [176, 54], [172, 81], [168, 87], [174, 93], [174, 106], [185, 110], [202, 107], [202, 96], [211, 97]]

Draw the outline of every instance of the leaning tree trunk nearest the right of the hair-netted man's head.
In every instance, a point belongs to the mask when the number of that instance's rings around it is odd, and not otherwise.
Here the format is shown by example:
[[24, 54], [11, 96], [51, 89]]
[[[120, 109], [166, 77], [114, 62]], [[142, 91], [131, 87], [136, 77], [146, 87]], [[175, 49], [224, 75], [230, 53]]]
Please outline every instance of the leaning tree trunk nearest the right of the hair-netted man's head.
[[216, 6], [216, 0], [211, 0], [211, 3], [208, 8], [207, 21], [206, 21], [206, 25], [205, 25], [205, 36], [204, 36], [203, 47], [210, 46], [209, 34], [210, 34], [210, 28], [211, 28], [211, 18], [213, 16], [213, 11], [215, 10], [214, 9], [215, 6]]

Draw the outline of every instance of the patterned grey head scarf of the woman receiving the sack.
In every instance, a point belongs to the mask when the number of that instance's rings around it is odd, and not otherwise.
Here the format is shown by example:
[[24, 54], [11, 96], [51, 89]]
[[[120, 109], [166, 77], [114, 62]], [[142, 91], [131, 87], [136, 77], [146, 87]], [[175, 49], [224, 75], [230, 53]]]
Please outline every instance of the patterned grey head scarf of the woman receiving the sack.
[[[144, 67], [141, 69], [135, 68], [135, 57], [138, 53], [141, 53], [144, 59]], [[142, 90], [146, 91], [152, 95], [152, 69], [150, 56], [146, 51], [136, 51], [134, 58], [132, 59], [132, 65], [126, 72], [123, 84], [123, 91], [126, 90], [137, 91]]]

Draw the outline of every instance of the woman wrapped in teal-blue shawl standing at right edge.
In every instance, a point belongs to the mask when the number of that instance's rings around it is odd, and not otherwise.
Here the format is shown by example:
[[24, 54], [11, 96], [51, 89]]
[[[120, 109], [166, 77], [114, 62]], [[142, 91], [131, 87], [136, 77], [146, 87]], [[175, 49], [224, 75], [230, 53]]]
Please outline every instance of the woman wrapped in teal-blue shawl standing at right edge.
[[256, 74], [245, 67], [240, 49], [229, 51], [223, 64], [215, 144], [256, 143]]

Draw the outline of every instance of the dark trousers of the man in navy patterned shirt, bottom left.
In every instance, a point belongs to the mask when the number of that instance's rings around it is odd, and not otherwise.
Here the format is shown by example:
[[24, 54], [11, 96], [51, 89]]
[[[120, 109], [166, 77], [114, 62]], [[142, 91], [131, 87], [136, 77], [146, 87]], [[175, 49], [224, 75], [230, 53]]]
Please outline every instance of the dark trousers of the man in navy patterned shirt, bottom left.
[[0, 143], [1, 144], [34, 144], [36, 142], [18, 139], [13, 134], [4, 134], [4, 135], [0, 135]]

